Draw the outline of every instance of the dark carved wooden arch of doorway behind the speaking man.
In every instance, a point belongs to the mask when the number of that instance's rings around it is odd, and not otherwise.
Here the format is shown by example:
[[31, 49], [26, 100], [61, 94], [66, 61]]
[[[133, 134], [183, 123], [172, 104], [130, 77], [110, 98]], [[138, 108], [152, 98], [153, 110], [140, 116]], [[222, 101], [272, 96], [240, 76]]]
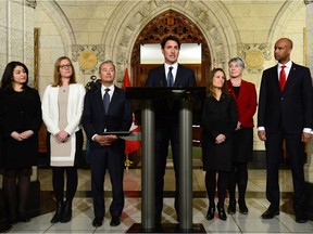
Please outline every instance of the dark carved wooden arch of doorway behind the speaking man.
[[137, 37], [137, 40], [133, 48], [130, 62], [133, 86], [142, 87], [146, 82], [149, 70], [160, 65], [140, 64], [140, 44], [160, 43], [162, 39], [168, 35], [174, 35], [178, 37], [181, 43], [201, 44], [201, 64], [185, 65], [195, 70], [197, 84], [205, 86], [205, 77], [208, 77], [212, 63], [209, 47], [204, 39], [204, 36], [193, 22], [173, 10], [165, 11], [164, 13], [154, 17], [148, 25], [146, 25], [146, 27]]

